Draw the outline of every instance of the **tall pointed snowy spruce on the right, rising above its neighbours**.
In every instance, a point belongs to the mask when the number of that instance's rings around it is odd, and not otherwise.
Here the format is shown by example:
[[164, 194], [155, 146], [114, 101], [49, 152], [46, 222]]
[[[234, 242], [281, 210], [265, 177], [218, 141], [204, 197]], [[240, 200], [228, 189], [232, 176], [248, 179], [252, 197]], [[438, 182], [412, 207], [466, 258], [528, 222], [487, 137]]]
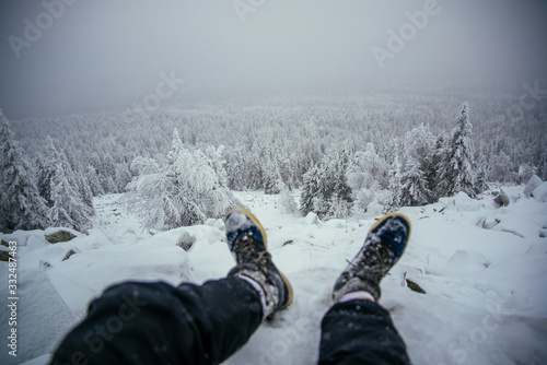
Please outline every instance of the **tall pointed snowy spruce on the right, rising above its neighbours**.
[[474, 158], [472, 146], [472, 123], [469, 107], [464, 103], [462, 115], [456, 118], [457, 126], [446, 142], [444, 155], [438, 164], [438, 197], [452, 197], [463, 191], [469, 197], [476, 197]]

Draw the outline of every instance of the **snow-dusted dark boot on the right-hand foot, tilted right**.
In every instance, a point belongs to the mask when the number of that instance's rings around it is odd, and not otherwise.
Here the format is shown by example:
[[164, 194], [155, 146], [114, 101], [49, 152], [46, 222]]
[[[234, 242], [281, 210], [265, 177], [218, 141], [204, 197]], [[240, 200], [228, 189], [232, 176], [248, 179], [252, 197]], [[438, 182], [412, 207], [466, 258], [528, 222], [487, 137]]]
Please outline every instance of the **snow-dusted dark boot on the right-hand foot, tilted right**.
[[369, 231], [363, 247], [338, 276], [333, 298], [353, 292], [369, 292], [379, 299], [380, 281], [399, 260], [410, 237], [410, 221], [400, 213], [391, 213], [379, 220]]

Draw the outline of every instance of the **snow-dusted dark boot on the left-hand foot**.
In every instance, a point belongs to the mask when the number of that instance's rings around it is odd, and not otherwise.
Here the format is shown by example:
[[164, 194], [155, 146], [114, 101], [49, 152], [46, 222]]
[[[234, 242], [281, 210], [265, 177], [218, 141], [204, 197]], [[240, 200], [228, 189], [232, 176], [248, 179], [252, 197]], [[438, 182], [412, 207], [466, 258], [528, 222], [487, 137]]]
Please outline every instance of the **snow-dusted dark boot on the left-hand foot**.
[[265, 317], [292, 303], [292, 286], [268, 252], [266, 232], [258, 220], [244, 209], [226, 215], [226, 238], [237, 262], [229, 275], [245, 276], [258, 283], [265, 293]]

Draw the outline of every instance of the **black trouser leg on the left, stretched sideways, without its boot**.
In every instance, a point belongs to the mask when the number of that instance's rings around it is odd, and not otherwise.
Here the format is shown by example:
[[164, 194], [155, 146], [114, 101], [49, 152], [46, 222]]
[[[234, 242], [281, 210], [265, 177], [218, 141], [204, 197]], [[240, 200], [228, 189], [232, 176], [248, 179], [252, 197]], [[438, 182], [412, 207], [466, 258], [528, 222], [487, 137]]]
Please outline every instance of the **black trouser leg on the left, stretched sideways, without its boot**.
[[237, 278], [201, 286], [124, 283], [90, 305], [53, 364], [219, 364], [261, 319], [258, 293]]

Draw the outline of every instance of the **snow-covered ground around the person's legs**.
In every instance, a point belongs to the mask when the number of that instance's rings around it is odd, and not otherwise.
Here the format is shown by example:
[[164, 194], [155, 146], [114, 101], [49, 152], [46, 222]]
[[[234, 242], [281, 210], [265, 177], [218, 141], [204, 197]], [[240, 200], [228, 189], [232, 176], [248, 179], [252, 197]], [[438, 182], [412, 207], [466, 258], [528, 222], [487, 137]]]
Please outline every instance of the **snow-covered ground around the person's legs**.
[[[415, 364], [547, 363], [547, 203], [505, 187], [509, 207], [492, 192], [465, 195], [401, 211], [412, 221], [408, 248], [382, 282], [380, 303], [389, 309]], [[319, 325], [331, 305], [331, 286], [362, 245], [374, 220], [322, 222], [282, 213], [277, 196], [238, 198], [266, 227], [274, 260], [294, 287], [294, 303], [265, 322], [225, 364], [315, 364]], [[158, 235], [139, 228], [118, 203], [97, 200], [94, 229], [56, 245], [44, 232], [3, 235], [18, 249], [18, 357], [1, 364], [46, 364], [89, 302], [126, 280], [201, 283], [233, 266], [222, 221]], [[177, 246], [191, 242], [188, 252]], [[63, 260], [67, 254], [75, 254]], [[2, 293], [8, 264], [1, 262]], [[405, 278], [426, 294], [411, 291]], [[2, 306], [1, 333], [8, 333]]]

